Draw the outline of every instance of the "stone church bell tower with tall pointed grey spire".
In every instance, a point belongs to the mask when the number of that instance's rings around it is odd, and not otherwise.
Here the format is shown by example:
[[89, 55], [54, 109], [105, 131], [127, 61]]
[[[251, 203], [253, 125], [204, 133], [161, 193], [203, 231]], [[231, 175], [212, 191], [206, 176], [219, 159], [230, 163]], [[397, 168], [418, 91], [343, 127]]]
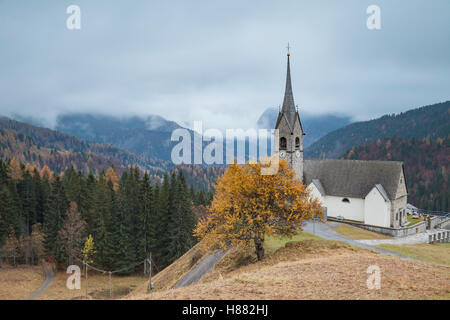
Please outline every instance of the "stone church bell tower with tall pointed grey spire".
[[279, 151], [280, 158], [286, 159], [297, 173], [297, 177], [303, 181], [303, 136], [305, 133], [292, 94], [290, 56], [288, 44], [286, 89], [275, 125], [275, 129], [279, 132], [279, 150], [275, 151]]

